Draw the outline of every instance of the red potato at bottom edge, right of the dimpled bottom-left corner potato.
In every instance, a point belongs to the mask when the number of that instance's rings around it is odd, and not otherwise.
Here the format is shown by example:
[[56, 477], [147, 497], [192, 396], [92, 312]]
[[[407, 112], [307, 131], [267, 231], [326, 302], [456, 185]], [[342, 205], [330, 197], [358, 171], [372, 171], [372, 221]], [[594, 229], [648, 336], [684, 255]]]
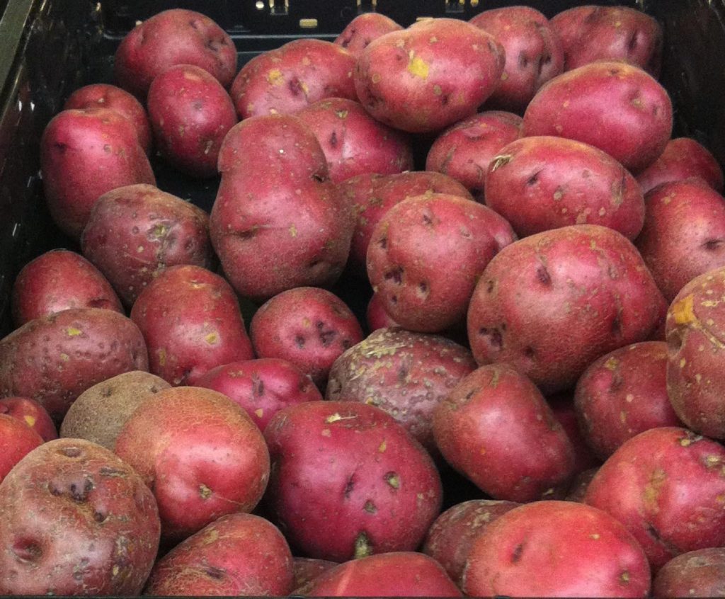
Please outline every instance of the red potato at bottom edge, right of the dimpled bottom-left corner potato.
[[294, 589], [292, 582], [292, 554], [282, 533], [260, 516], [233, 513], [157, 561], [144, 594], [280, 597]]

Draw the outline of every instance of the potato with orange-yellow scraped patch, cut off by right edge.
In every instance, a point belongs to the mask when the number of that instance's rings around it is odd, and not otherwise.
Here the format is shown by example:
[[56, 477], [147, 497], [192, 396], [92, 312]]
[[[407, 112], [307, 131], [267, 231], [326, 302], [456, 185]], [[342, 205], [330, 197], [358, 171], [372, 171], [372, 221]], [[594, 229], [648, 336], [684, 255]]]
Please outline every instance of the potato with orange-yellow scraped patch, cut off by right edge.
[[684, 424], [725, 439], [725, 267], [692, 279], [667, 312], [667, 393]]

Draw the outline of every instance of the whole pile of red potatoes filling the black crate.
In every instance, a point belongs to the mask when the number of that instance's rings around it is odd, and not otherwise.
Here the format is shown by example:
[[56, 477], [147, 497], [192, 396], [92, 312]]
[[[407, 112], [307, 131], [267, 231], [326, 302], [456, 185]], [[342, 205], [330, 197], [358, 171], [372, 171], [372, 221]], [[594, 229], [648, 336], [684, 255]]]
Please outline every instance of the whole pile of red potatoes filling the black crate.
[[138, 24], [41, 140], [70, 249], [0, 339], [0, 594], [721, 594], [723, 173], [662, 46], [368, 13], [240, 68]]

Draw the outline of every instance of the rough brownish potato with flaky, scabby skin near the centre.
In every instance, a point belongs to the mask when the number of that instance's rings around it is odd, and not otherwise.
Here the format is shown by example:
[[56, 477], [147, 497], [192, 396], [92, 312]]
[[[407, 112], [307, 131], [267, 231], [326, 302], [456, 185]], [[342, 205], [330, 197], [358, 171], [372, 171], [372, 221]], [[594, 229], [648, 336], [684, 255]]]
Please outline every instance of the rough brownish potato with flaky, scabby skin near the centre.
[[326, 398], [365, 402], [386, 411], [438, 456], [433, 410], [474, 368], [471, 352], [450, 339], [380, 329], [335, 361]]

